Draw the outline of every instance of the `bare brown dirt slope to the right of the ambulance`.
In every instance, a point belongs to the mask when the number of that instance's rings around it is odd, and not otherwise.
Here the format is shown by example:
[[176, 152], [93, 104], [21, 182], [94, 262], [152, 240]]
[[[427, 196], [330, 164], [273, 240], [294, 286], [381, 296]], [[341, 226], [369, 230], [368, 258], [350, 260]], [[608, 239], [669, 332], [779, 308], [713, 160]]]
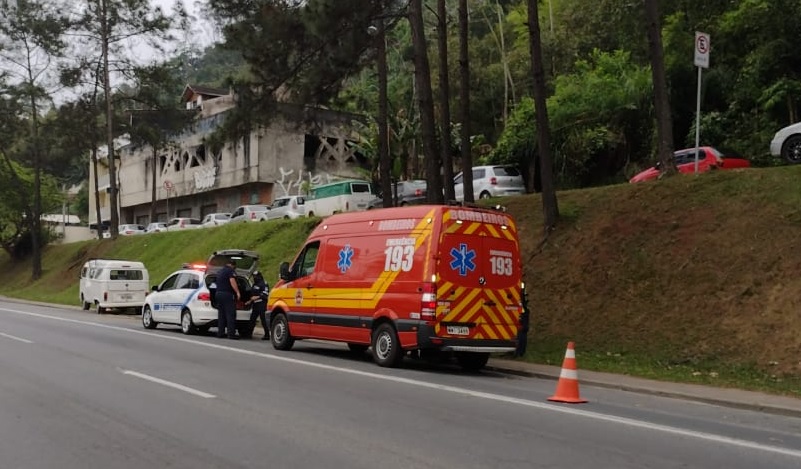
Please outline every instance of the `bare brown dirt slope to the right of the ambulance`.
[[541, 250], [540, 199], [510, 200], [535, 351], [571, 339], [664, 366], [801, 375], [799, 180], [797, 167], [750, 169], [560, 193]]

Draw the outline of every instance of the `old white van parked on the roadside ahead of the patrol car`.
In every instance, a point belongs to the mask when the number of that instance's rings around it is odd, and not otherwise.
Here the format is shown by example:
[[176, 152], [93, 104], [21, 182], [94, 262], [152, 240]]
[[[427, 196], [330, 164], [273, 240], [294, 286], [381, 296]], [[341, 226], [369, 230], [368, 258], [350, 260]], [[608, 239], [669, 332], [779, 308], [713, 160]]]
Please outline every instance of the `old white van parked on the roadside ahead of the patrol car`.
[[92, 305], [97, 314], [109, 308], [140, 311], [149, 291], [150, 275], [145, 264], [116, 259], [91, 259], [81, 268], [80, 301]]

